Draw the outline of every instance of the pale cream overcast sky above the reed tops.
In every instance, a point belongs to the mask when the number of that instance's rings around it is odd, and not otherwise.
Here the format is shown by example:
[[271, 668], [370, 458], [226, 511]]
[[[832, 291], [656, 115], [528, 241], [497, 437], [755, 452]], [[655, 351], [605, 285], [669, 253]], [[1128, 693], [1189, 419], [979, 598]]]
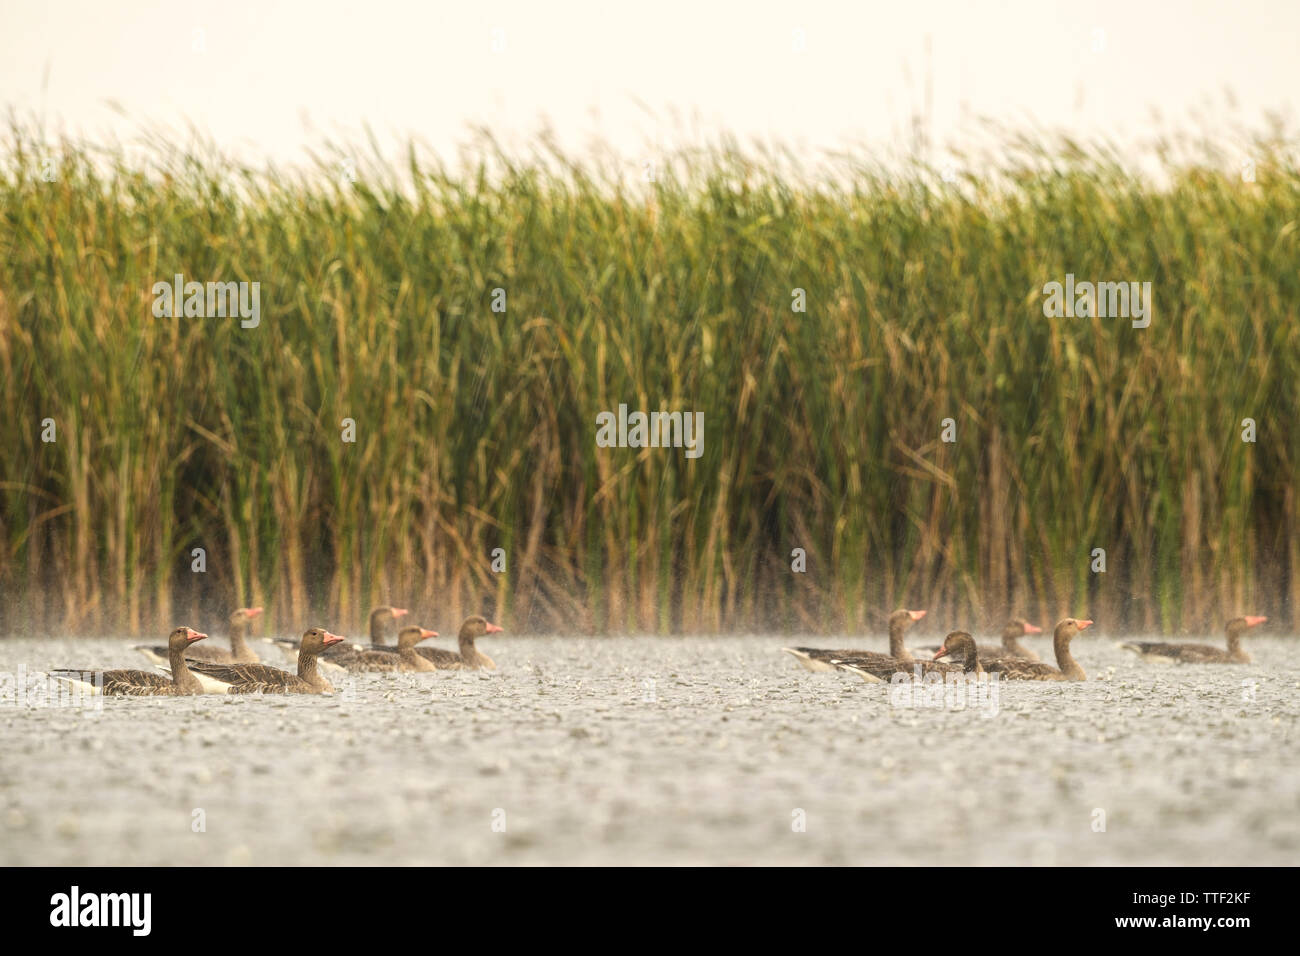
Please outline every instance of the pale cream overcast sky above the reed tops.
[[543, 124], [633, 157], [692, 129], [904, 151], [927, 77], [940, 143], [976, 116], [1113, 140], [1153, 111], [1294, 129], [1300, 3], [0, 3], [5, 109], [92, 139], [195, 126], [281, 163], [365, 124], [447, 156], [471, 125], [511, 143]]

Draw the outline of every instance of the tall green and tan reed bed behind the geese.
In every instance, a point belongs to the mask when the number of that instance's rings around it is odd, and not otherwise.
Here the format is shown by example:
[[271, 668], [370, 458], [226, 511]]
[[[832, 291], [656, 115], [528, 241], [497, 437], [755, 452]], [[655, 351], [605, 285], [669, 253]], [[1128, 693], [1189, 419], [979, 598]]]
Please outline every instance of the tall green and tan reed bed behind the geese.
[[[1020, 143], [953, 183], [724, 147], [654, 183], [490, 148], [351, 183], [16, 125], [0, 631], [381, 601], [445, 630], [1292, 630], [1300, 169], [1254, 151], [1254, 182]], [[176, 273], [260, 282], [260, 325], [155, 317]], [[1150, 326], [1045, 317], [1066, 273], [1150, 281]], [[702, 411], [703, 454], [597, 447], [620, 402]]]

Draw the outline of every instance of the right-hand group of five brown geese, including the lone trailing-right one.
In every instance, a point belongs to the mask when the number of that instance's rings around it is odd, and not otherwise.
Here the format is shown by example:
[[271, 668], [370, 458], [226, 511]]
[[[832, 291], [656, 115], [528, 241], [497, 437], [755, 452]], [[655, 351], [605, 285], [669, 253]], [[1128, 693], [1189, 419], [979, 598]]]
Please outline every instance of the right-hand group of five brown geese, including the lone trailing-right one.
[[[842, 670], [857, 674], [874, 683], [892, 682], [898, 678], [911, 678], [918, 672], [966, 674], [976, 679], [985, 674], [996, 674], [1004, 680], [1087, 680], [1079, 662], [1070, 653], [1070, 641], [1079, 631], [1092, 626], [1082, 618], [1065, 618], [1058, 622], [1052, 633], [1052, 650], [1056, 653], [1056, 666], [1039, 659], [1037, 654], [1020, 644], [1020, 637], [1028, 633], [1043, 633], [1043, 628], [1023, 618], [1013, 618], [1002, 628], [1002, 644], [997, 649], [980, 648], [966, 631], [953, 631], [937, 648], [918, 648], [916, 654], [930, 656], [918, 659], [904, 645], [904, 633], [915, 622], [926, 617], [926, 611], [910, 611], [905, 607], [889, 615], [889, 653], [874, 650], [826, 650], [822, 648], [781, 648], [788, 654], [812, 671]], [[1249, 663], [1251, 656], [1242, 648], [1242, 636], [1252, 627], [1258, 627], [1268, 618], [1244, 615], [1227, 622], [1227, 649], [1209, 644], [1170, 644], [1165, 641], [1126, 641], [1119, 646], [1131, 650], [1147, 661], [1167, 663]]]

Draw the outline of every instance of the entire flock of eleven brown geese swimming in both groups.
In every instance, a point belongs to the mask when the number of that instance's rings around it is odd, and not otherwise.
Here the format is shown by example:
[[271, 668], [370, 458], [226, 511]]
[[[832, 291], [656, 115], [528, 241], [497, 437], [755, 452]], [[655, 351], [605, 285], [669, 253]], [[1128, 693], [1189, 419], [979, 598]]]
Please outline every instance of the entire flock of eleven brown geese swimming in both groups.
[[[56, 669], [49, 674], [75, 685], [86, 695], [127, 697], [165, 697], [194, 693], [329, 693], [334, 687], [326, 672], [358, 671], [438, 671], [495, 670], [497, 663], [478, 650], [474, 641], [502, 628], [474, 615], [465, 618], [458, 635], [458, 649], [421, 648], [421, 641], [437, 637], [437, 631], [419, 624], [400, 626], [404, 607], [382, 606], [370, 611], [369, 644], [348, 643], [324, 627], [313, 627], [299, 640], [269, 637], [298, 661], [298, 670], [263, 662], [248, 644], [248, 631], [263, 613], [261, 607], [240, 607], [230, 615], [230, 650], [198, 645], [208, 635], [192, 627], [178, 627], [165, 645], [136, 644], [155, 670], [75, 670]], [[874, 650], [827, 650], [820, 648], [781, 648], [812, 671], [842, 670], [870, 682], [890, 682], [918, 674], [965, 674], [976, 679], [994, 674], [1005, 680], [1087, 680], [1083, 667], [1070, 654], [1070, 641], [1092, 626], [1080, 618], [1065, 618], [1052, 635], [1056, 666], [1040, 661], [1020, 644], [1020, 637], [1041, 633], [1043, 628], [1015, 618], [1002, 628], [1001, 645], [980, 648], [966, 631], [953, 631], [939, 646], [911, 652], [904, 635], [926, 611], [900, 609], [889, 615], [889, 653]], [[1227, 622], [1227, 649], [1208, 644], [1124, 643], [1145, 659], [1183, 663], [1247, 663], [1251, 657], [1242, 648], [1242, 636], [1268, 618], [1245, 615]], [[387, 643], [396, 630], [396, 645]], [[919, 657], [918, 657], [919, 656]], [[945, 678], [946, 679], [946, 678]]]

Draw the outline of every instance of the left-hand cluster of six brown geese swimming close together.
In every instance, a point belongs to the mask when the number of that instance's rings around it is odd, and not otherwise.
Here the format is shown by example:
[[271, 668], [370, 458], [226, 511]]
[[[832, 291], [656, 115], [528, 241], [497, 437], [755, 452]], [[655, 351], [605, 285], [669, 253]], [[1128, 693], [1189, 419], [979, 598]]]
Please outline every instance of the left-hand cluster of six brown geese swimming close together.
[[[497, 663], [474, 645], [484, 635], [502, 631], [486, 618], [465, 618], [456, 650], [421, 648], [416, 645], [437, 637], [438, 632], [419, 624], [399, 627], [408, 611], [385, 605], [370, 611], [369, 644], [348, 643], [324, 627], [313, 627], [298, 640], [264, 639], [296, 658], [296, 672], [287, 671], [263, 662], [248, 644], [248, 631], [261, 613], [261, 607], [240, 607], [230, 615], [230, 650], [199, 645], [198, 641], [207, 640], [208, 635], [192, 627], [178, 627], [165, 645], [133, 645], [133, 650], [153, 663], [152, 671], [60, 667], [49, 675], [88, 696], [177, 697], [194, 693], [332, 693], [334, 685], [325, 676], [328, 672], [497, 669]], [[395, 646], [387, 643], [394, 628], [398, 628]]]

